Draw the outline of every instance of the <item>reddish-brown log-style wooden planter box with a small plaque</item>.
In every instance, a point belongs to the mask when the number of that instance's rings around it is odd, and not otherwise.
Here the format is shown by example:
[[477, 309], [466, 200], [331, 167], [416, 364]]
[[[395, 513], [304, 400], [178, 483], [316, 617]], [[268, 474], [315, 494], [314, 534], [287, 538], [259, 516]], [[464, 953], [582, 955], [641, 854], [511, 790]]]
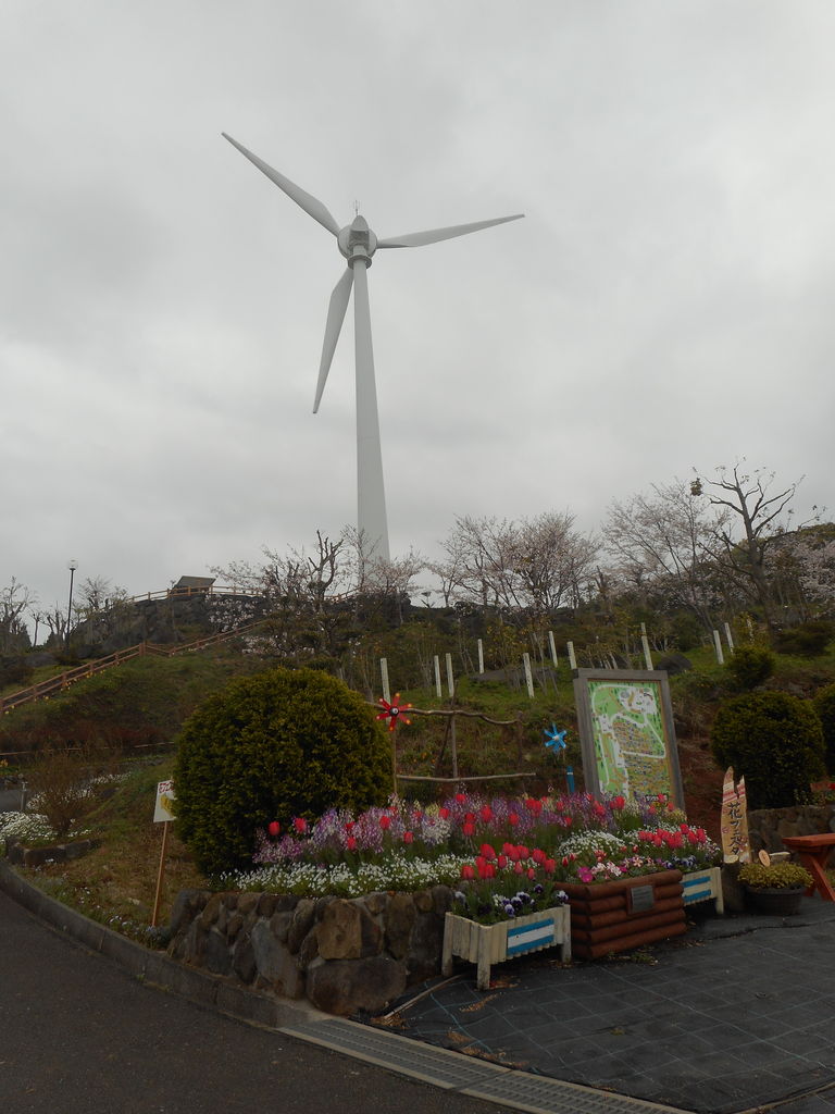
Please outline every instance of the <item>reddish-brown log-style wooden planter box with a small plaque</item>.
[[687, 931], [680, 870], [584, 885], [566, 882], [571, 951], [599, 959]]

